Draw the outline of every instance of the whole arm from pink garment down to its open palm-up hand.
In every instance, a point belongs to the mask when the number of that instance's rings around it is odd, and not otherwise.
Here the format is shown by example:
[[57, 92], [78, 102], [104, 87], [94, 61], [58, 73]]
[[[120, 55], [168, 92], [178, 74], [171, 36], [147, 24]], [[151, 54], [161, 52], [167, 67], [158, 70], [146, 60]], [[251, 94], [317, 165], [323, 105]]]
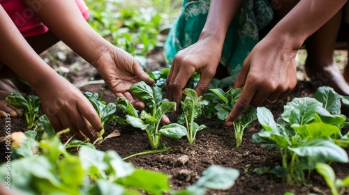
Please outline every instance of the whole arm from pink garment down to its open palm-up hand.
[[[40, 6], [34, 1], [39, 2]], [[138, 102], [129, 93], [129, 88], [140, 80], [147, 84], [153, 84], [154, 80], [142, 70], [131, 54], [99, 36], [84, 20], [75, 1], [29, 0], [24, 3], [34, 10], [35, 15], [54, 35], [94, 65], [114, 95], [128, 98], [135, 107], [144, 107], [142, 102]]]

